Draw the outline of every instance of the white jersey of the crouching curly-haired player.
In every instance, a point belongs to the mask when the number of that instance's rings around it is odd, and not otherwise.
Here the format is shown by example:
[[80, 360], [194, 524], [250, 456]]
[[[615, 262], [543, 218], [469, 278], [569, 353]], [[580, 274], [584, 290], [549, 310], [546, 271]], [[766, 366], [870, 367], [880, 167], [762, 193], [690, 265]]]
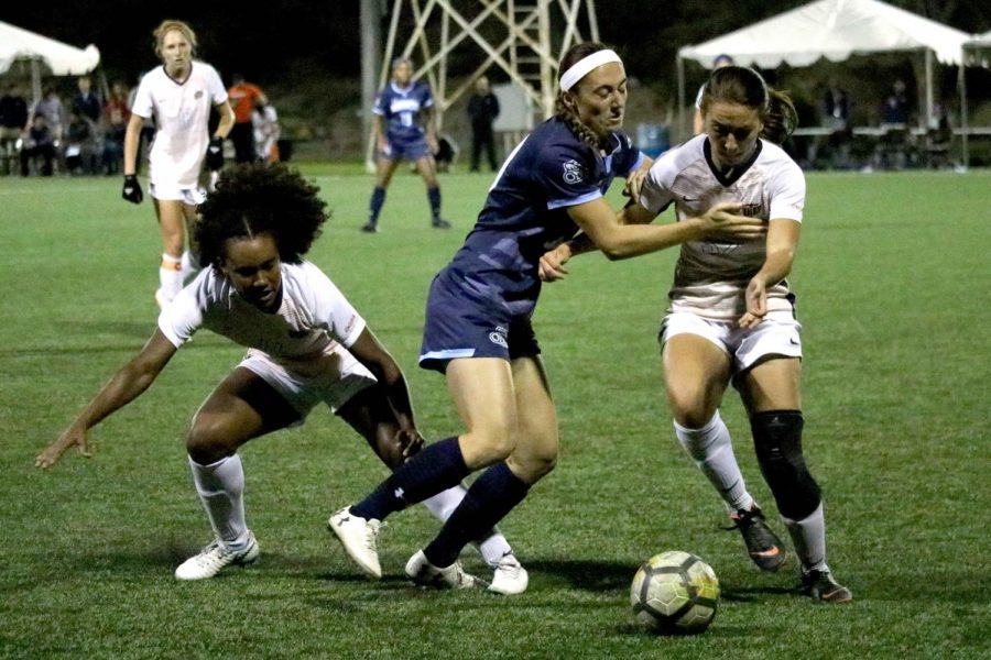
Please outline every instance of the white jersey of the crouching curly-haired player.
[[246, 301], [213, 267], [204, 268], [159, 315], [159, 329], [176, 348], [199, 328], [257, 349], [273, 362], [306, 374], [313, 360], [350, 348], [364, 330], [344, 294], [309, 262], [282, 264], [282, 305], [266, 314]]

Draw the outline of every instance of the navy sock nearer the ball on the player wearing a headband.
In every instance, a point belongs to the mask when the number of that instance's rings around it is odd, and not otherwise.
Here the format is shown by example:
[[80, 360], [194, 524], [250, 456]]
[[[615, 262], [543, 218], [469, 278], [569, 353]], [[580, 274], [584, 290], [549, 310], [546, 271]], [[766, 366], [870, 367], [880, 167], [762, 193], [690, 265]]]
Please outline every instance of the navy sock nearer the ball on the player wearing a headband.
[[437, 537], [423, 549], [427, 561], [439, 568], [453, 564], [465, 546], [492, 529], [523, 502], [529, 491], [530, 484], [513, 474], [504, 461], [486, 470], [468, 488]]

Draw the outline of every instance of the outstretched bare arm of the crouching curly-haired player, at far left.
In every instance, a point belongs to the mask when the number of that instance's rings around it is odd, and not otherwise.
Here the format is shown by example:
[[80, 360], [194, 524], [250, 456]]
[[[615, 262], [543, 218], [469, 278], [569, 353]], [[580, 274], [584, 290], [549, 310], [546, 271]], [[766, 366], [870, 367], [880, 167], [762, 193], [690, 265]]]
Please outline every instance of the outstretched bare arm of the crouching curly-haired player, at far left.
[[176, 348], [155, 330], [141, 352], [118, 371], [109, 383], [104, 385], [99, 394], [89, 403], [86, 409], [62, 432], [55, 442], [45, 448], [34, 464], [37, 468], [51, 468], [58, 462], [70, 447], [79, 448], [79, 453], [86, 458], [92, 455], [86, 432], [116, 410], [123, 408], [138, 398], [141, 393], [154, 383], [155, 378], [175, 354]]

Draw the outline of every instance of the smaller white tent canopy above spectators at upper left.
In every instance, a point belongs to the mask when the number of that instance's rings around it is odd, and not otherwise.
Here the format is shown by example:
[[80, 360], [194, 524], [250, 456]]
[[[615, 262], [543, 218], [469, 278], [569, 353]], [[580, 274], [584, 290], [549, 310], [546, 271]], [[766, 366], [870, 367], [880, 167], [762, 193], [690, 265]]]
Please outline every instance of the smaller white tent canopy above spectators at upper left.
[[100, 63], [100, 52], [89, 44], [76, 48], [0, 21], [0, 74], [19, 59], [31, 62], [34, 98], [41, 96], [41, 65], [56, 76], [88, 74]]

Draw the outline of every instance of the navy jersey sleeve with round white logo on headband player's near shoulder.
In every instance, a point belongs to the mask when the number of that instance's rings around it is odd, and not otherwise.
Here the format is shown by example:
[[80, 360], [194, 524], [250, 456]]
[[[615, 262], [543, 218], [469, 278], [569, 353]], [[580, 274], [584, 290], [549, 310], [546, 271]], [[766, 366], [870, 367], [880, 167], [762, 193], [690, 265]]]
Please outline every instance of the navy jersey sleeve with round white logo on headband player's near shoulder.
[[540, 151], [534, 179], [548, 209], [577, 206], [602, 197], [595, 177], [595, 155], [584, 145], [547, 144]]

